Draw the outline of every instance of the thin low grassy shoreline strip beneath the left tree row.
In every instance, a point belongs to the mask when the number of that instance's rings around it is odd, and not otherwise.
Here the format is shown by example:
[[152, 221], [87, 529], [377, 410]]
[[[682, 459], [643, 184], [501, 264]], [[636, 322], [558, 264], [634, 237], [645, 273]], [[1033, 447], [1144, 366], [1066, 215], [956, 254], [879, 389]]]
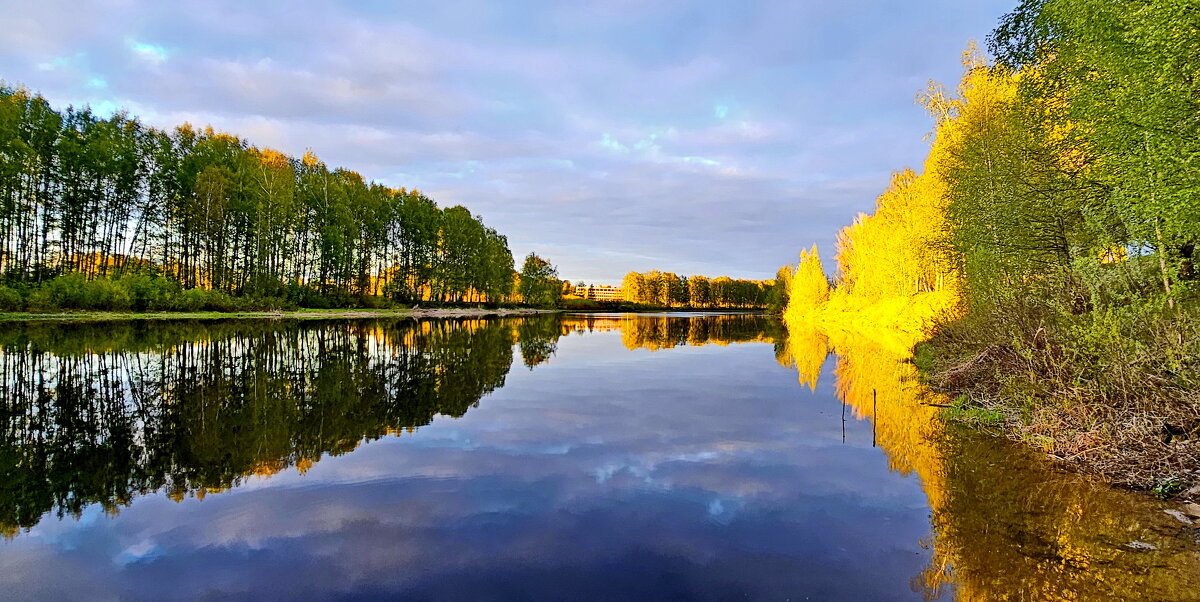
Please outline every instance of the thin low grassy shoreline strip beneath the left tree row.
[[330, 318], [486, 318], [557, 313], [536, 308], [403, 308], [403, 309], [296, 309], [289, 312], [60, 312], [0, 313], [5, 321], [110, 321], [110, 320], [229, 320], [229, 319], [330, 319]]

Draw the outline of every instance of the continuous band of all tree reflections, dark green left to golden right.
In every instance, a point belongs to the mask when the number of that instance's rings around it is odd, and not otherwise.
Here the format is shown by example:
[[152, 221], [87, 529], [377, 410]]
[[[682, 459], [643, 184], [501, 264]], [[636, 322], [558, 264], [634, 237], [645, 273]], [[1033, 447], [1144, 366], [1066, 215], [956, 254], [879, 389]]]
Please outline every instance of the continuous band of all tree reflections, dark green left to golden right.
[[911, 342], [761, 315], [4, 325], [0, 528], [14, 536], [47, 512], [115, 513], [154, 492], [180, 500], [302, 472], [324, 454], [462, 416], [504, 385], [517, 354], [532, 369], [553, 361], [562, 337], [602, 331], [652, 351], [769, 343], [812, 390], [835, 354], [835, 395], [928, 498], [934, 556], [912, 578], [925, 597], [1198, 597], [1188, 528], [1145, 495], [947, 427], [934, 405], [946, 399], [906, 361]]

